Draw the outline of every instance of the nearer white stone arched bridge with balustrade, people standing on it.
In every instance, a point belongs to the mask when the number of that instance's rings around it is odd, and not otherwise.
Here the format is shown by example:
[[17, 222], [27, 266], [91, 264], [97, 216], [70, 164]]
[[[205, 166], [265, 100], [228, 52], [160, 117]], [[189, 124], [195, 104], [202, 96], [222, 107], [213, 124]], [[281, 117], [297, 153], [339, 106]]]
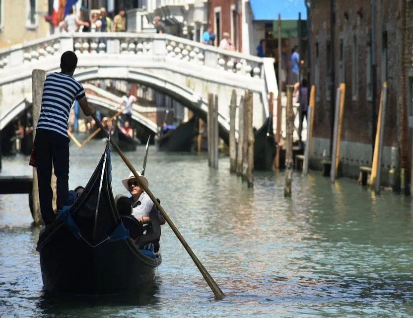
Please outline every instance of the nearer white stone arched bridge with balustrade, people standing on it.
[[[278, 94], [271, 58], [219, 50], [168, 34], [61, 34], [0, 51], [0, 120], [11, 120], [12, 114], [31, 104], [33, 69], [60, 71], [60, 56], [67, 50], [78, 55], [77, 80], [120, 79], [144, 84], [170, 95], [204, 119], [208, 93], [217, 94], [220, 134], [224, 135], [229, 131], [233, 89], [238, 100], [245, 90], [253, 92], [256, 128], [269, 115], [269, 93]], [[1, 122], [1, 127], [6, 124]]]

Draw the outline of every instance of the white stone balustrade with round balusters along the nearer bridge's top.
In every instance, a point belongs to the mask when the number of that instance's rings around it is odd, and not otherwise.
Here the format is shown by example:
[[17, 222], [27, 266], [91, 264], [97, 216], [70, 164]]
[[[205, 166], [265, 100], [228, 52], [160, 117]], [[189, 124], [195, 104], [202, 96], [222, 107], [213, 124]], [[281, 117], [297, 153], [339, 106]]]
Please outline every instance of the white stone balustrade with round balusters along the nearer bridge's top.
[[73, 33], [51, 36], [0, 51], [0, 71], [58, 56], [63, 51], [76, 54], [136, 54], [157, 56], [205, 65], [231, 73], [264, 78], [264, 59], [168, 34]]

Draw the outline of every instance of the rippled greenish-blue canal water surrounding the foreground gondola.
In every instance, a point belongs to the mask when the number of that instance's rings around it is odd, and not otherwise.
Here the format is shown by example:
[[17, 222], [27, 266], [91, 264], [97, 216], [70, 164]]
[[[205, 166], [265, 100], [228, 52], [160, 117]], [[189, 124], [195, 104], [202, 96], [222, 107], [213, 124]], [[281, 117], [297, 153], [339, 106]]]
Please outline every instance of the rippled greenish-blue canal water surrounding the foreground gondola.
[[[85, 185], [104, 143], [71, 143], [69, 186]], [[140, 170], [144, 147], [128, 158]], [[29, 174], [28, 158], [3, 158], [2, 175]], [[114, 194], [129, 174], [112, 152]], [[410, 198], [376, 196], [318, 171], [255, 174], [253, 189], [229, 173], [229, 158], [149, 149], [149, 188], [226, 294], [214, 300], [168, 225], [155, 285], [139, 295], [55, 297], [42, 290], [39, 229], [27, 195], [0, 196], [0, 317], [412, 317]], [[104, 279], [111, 279], [105, 277]]]

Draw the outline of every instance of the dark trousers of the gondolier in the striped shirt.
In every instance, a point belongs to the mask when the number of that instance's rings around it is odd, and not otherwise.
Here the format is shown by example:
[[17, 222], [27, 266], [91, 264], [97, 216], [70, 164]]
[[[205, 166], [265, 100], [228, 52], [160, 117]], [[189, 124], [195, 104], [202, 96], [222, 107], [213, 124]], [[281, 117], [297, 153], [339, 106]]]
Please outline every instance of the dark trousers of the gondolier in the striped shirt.
[[52, 162], [56, 175], [58, 211], [69, 203], [69, 138], [51, 130], [38, 129], [34, 144], [40, 210], [45, 225], [48, 225], [55, 220]]

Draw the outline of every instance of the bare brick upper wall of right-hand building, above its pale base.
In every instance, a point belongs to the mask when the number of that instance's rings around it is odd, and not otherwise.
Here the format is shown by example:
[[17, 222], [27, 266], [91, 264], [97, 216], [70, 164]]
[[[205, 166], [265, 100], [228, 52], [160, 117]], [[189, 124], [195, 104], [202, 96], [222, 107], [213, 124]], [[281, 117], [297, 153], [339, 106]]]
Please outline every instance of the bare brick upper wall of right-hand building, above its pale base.
[[[372, 104], [367, 98], [367, 45], [371, 33], [371, 1], [346, 0], [336, 2], [336, 25], [334, 30], [335, 87], [339, 85], [340, 40], [343, 41], [344, 82], [346, 84], [342, 140], [371, 144], [372, 142]], [[376, 7], [376, 63], [377, 63], [377, 113], [382, 81], [382, 34], [387, 31], [387, 81], [389, 84], [385, 146], [397, 147], [400, 135], [400, 80], [401, 80], [401, 23], [400, 1], [377, 1]], [[327, 41], [330, 41], [330, 0], [313, 1], [312, 15], [312, 66], [315, 66], [315, 43], [319, 48], [320, 98], [316, 104], [314, 136], [330, 138], [330, 101], [327, 90], [328, 72]], [[358, 68], [352, 74], [354, 37], [358, 49]], [[412, 40], [412, 39], [411, 39]], [[315, 82], [312, 72], [312, 82]], [[352, 77], [356, 77], [358, 89], [356, 97], [352, 94]]]

